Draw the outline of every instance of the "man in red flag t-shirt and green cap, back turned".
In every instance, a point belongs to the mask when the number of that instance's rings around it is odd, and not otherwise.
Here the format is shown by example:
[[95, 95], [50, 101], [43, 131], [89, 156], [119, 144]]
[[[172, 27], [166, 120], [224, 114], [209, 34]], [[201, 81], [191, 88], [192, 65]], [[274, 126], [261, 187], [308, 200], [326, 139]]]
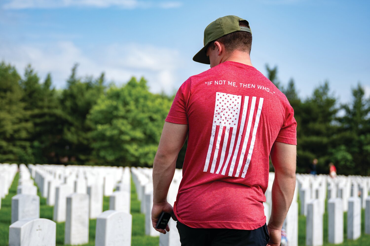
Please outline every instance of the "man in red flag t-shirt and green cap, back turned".
[[[211, 69], [180, 86], [166, 117], [153, 164], [152, 223], [171, 213], [181, 245], [280, 245], [296, 183], [297, 123], [286, 96], [252, 66], [251, 45], [248, 21], [225, 16], [209, 24], [193, 60]], [[186, 137], [172, 208], [166, 197]], [[266, 225], [269, 156], [275, 181]]]

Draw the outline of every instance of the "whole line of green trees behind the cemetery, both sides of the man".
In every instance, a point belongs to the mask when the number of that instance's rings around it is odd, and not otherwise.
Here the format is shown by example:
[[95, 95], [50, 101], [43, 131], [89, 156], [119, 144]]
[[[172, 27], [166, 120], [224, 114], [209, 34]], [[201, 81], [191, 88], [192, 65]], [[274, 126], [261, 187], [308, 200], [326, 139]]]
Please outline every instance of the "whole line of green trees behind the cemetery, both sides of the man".
[[[80, 77], [77, 68], [55, 89], [50, 74], [42, 80], [28, 65], [21, 76], [0, 63], [0, 163], [152, 166], [174, 95], [149, 92], [144, 78], [116, 86], [104, 73]], [[347, 104], [328, 82], [303, 99], [293, 79], [281, 86], [277, 67], [266, 70], [295, 111], [297, 172], [309, 172], [317, 158], [319, 173], [333, 162], [338, 174], [370, 175], [370, 97], [361, 84]]]

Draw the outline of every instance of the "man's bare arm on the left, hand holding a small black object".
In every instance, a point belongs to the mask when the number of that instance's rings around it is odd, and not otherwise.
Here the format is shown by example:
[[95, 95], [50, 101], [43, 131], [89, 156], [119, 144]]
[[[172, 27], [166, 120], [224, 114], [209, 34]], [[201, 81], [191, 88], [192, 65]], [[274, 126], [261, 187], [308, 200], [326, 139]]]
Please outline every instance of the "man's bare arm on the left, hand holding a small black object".
[[[187, 124], [165, 122], [159, 141], [158, 151], [153, 163], [153, 208], [152, 225], [155, 228], [162, 212], [171, 213], [172, 219], [177, 221], [172, 205], [167, 202], [167, 193], [175, 174], [176, 160], [188, 135]], [[156, 229], [166, 234], [166, 229]]]

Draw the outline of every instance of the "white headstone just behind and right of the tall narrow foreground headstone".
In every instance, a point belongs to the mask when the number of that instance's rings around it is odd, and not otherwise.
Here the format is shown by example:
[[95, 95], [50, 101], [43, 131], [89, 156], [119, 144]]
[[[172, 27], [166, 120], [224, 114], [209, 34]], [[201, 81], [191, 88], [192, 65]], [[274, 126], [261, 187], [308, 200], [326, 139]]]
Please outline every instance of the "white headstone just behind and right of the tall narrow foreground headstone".
[[89, 217], [95, 219], [103, 211], [103, 186], [97, 183], [89, 185], [87, 194], [89, 195]]

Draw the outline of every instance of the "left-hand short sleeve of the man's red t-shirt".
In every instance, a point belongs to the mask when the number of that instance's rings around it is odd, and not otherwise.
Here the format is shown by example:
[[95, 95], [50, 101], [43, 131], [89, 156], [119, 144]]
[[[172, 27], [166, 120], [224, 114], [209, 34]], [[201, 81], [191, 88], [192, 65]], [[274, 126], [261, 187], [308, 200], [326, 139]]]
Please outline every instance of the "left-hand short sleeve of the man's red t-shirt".
[[190, 78], [178, 89], [171, 109], [165, 119], [166, 122], [188, 124], [187, 107], [190, 96]]

